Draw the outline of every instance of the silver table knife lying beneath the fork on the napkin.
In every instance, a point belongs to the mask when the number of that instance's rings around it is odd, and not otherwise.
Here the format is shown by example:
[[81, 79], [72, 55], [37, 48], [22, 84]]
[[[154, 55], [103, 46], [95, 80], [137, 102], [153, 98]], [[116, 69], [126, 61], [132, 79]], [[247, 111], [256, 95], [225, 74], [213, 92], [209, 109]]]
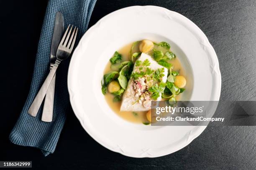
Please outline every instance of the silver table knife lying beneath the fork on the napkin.
[[[51, 55], [50, 55], [50, 70], [54, 66], [56, 60], [56, 51], [61, 41], [64, 32], [64, 20], [61, 12], [57, 12], [54, 22], [54, 32], [51, 39]], [[44, 99], [44, 109], [41, 120], [44, 122], [51, 122], [54, 107], [54, 88], [55, 88], [55, 75], [51, 81], [46, 96]]]

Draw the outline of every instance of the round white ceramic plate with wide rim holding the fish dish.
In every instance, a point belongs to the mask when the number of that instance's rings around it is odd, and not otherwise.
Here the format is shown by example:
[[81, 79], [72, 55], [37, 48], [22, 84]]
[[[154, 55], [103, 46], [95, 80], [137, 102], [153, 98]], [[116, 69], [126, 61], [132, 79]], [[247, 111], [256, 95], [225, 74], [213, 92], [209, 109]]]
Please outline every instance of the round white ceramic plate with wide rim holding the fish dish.
[[142, 39], [170, 43], [191, 84], [182, 100], [219, 100], [218, 58], [207, 37], [183, 15], [156, 6], [126, 7], [92, 26], [72, 56], [68, 89], [75, 115], [98, 143], [130, 157], [159, 157], [184, 148], [206, 126], [133, 124], [110, 109], [100, 85], [105, 65], [115, 50]]

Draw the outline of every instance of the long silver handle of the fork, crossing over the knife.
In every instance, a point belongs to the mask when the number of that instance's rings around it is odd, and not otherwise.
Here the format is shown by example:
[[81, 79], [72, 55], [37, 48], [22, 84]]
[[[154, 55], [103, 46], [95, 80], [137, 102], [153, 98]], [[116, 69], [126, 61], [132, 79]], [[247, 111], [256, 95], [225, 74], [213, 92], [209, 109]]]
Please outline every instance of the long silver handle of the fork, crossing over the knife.
[[52, 67], [51, 71], [49, 72], [48, 76], [46, 77], [46, 79], [44, 80], [44, 84], [42, 85], [42, 87], [40, 88], [39, 92], [36, 95], [36, 98], [34, 99], [34, 101], [32, 102], [31, 106], [28, 109], [28, 114], [35, 117], [43, 100], [44, 100], [44, 96], [46, 95], [46, 92], [48, 90], [48, 87], [51, 84], [51, 80], [53, 79], [56, 70], [59, 66], [59, 63], [61, 61], [60, 60], [56, 60], [54, 66]]

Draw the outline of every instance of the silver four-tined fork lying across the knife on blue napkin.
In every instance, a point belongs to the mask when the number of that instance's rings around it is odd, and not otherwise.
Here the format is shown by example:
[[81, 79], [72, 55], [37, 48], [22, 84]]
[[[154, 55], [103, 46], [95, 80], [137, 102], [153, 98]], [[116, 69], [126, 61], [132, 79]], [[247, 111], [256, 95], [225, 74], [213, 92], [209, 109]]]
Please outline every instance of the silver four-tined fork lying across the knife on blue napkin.
[[[51, 80], [53, 79], [55, 72], [59, 66], [59, 63], [62, 60], [65, 60], [69, 57], [69, 55], [71, 54], [73, 47], [74, 47], [74, 43], [76, 41], [76, 37], [77, 37], [77, 27], [75, 27], [72, 31], [73, 25], [71, 26], [71, 28], [69, 29], [70, 25], [68, 26], [65, 34], [63, 35], [61, 42], [59, 43], [59, 47], [56, 53], [56, 61], [54, 63], [54, 66], [52, 67], [51, 71], [49, 72], [48, 76], [46, 77], [46, 80], [44, 80], [44, 84], [42, 85], [42, 87], [40, 88], [39, 92], [36, 95], [36, 98], [34, 99], [34, 101], [32, 102], [31, 106], [28, 109], [28, 114], [30, 114], [31, 116], [35, 117], [43, 100], [44, 100], [44, 96], [46, 95], [47, 89], [51, 84]], [[72, 34], [71, 34], [72, 32]], [[70, 36], [71, 35], [71, 36]]]

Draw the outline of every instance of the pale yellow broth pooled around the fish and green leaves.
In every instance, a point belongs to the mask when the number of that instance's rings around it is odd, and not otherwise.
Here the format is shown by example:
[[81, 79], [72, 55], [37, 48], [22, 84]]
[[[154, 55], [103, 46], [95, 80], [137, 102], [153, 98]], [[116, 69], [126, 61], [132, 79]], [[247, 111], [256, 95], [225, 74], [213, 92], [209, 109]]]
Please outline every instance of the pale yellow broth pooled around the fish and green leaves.
[[[128, 44], [124, 47], [122, 47], [120, 50], [118, 50], [118, 52], [122, 55], [122, 59], [124, 61], [130, 60], [129, 59], [129, 54], [130, 54], [130, 50], [132, 47], [133, 43]], [[139, 44], [138, 44], [139, 45]], [[136, 45], [133, 48], [133, 52], [139, 52], [138, 49], [138, 45]], [[110, 56], [112, 57], [112, 56]], [[174, 66], [173, 70], [179, 71], [179, 75], [185, 75], [184, 69], [182, 69], [182, 66], [179, 62], [178, 56], [176, 56], [176, 58], [169, 60], [170, 63], [172, 63], [172, 65]], [[105, 67], [104, 70], [104, 75], [108, 72], [111, 71], [110, 69], [111, 63], [108, 62], [108, 64]], [[180, 94], [182, 95], [182, 94]], [[180, 95], [176, 96], [176, 99], [179, 100]], [[110, 106], [110, 108], [116, 113], [118, 114], [120, 117], [122, 117], [125, 120], [128, 120], [130, 122], [134, 122], [134, 123], [143, 123], [143, 122], [148, 122], [148, 120], [146, 119], [146, 112], [130, 112], [130, 111], [120, 111], [120, 107], [121, 107], [121, 102], [113, 102], [113, 98], [114, 95], [112, 95], [111, 93], [107, 92], [105, 95], [105, 100], [107, 101], [108, 105]]]

